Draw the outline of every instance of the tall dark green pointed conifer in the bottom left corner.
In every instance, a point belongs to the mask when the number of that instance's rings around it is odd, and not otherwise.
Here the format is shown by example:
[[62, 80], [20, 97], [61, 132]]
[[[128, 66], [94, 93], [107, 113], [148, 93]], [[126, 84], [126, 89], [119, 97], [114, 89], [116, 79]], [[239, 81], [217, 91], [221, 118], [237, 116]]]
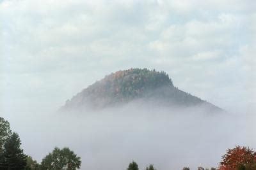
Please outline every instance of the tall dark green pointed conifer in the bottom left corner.
[[4, 166], [3, 169], [24, 169], [27, 156], [20, 148], [20, 138], [17, 133], [13, 133], [4, 143]]

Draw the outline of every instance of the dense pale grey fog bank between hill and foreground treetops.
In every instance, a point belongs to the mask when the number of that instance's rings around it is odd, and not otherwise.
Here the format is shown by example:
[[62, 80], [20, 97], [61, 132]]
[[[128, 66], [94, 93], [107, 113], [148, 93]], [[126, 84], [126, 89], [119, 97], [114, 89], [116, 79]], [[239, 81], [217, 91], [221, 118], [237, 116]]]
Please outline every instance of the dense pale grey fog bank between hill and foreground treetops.
[[24, 152], [38, 162], [54, 146], [68, 146], [81, 157], [81, 169], [92, 170], [126, 169], [132, 160], [140, 169], [216, 167], [227, 148], [255, 147], [253, 118], [134, 103], [82, 113], [6, 115]]

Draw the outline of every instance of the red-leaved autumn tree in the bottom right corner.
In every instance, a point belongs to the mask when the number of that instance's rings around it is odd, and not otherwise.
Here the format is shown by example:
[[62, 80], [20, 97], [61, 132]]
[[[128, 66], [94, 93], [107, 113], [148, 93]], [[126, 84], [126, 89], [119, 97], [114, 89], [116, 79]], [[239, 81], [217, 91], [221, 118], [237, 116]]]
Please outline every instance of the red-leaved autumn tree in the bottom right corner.
[[228, 149], [227, 153], [222, 156], [222, 161], [220, 162], [220, 169], [230, 170], [230, 169], [245, 169], [250, 168], [255, 164], [256, 153], [248, 147], [236, 146], [236, 148]]

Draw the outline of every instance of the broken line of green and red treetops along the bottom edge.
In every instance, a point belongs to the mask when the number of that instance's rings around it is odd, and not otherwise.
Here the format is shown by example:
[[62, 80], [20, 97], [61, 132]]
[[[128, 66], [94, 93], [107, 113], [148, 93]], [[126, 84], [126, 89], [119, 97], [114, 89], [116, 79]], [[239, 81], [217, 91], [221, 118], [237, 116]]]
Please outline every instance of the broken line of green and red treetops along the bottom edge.
[[[38, 163], [24, 154], [20, 145], [19, 135], [12, 132], [7, 120], [0, 117], [0, 170], [75, 170], [81, 167], [81, 158], [69, 148], [56, 147]], [[127, 170], [139, 170], [138, 164], [132, 161]], [[145, 170], [157, 169], [150, 164]], [[182, 170], [189, 170], [189, 167]], [[198, 170], [210, 169], [198, 167]], [[218, 168], [211, 167], [211, 170], [256, 170], [256, 152], [245, 146], [228, 149]]]

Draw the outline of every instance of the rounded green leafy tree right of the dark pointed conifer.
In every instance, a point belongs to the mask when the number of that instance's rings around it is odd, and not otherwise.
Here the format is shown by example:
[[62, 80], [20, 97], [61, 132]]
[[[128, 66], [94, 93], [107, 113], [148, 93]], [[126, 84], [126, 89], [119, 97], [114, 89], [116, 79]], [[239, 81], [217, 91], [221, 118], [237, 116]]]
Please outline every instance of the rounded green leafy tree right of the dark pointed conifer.
[[67, 169], [67, 170], [75, 170], [80, 168], [81, 166], [81, 158], [77, 157], [77, 155], [69, 150], [69, 148], [54, 148], [52, 153], [49, 153], [42, 160], [42, 169]]

